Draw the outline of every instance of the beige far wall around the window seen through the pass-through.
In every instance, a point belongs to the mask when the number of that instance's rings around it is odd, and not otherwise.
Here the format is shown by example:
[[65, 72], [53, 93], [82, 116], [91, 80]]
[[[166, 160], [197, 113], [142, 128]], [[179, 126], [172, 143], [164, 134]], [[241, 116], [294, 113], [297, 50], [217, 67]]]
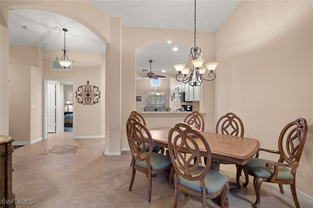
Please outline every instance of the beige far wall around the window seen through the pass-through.
[[[166, 93], [165, 106], [169, 106], [169, 85], [170, 79], [160, 79], [159, 92]], [[151, 79], [136, 80], [136, 96], [141, 96], [141, 102], [136, 102], [136, 111], [143, 111], [143, 107], [146, 106], [146, 92], [157, 92], [157, 86], [151, 86]]]

